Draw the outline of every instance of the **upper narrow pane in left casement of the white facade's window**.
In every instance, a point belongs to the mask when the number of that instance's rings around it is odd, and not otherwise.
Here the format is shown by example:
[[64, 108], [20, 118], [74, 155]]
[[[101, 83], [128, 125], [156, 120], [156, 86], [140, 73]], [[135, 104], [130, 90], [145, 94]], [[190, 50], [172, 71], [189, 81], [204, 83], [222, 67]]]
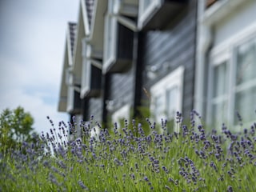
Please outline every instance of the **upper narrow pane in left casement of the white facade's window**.
[[214, 98], [226, 94], [226, 62], [214, 67]]

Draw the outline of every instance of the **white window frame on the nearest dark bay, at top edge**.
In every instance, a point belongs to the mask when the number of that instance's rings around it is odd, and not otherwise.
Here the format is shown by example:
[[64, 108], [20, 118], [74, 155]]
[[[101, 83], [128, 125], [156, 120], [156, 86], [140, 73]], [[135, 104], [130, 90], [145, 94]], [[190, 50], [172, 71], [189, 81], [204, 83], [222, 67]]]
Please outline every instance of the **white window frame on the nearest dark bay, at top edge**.
[[154, 11], [161, 6], [161, 0], [152, 0], [150, 5], [147, 6], [146, 10], [143, 10], [145, 7], [145, 0], [140, 0], [138, 3], [138, 29], [141, 30], [144, 26], [144, 22], [147, 18], [150, 17], [150, 14], [154, 14]]

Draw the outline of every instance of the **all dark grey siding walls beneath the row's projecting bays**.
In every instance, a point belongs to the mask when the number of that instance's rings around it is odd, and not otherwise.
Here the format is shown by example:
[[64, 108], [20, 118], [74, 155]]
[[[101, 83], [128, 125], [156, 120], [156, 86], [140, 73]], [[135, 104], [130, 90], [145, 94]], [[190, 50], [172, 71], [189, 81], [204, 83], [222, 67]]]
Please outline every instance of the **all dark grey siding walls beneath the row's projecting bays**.
[[[130, 69], [123, 73], [108, 74], [107, 78], [102, 79], [102, 89], [105, 90], [100, 98], [89, 99], [86, 105], [87, 117], [94, 114], [94, 119], [101, 121], [103, 114], [104, 116], [110, 114], [104, 110], [103, 98], [114, 101], [114, 110], [118, 110], [126, 103], [130, 103], [131, 106], [134, 103], [142, 105], [143, 100], [148, 101], [143, 87], [149, 91], [150, 86], [181, 65], [185, 67], [182, 112], [185, 118], [189, 117], [194, 102], [196, 2], [196, 0], [189, 1], [176, 18], [170, 18], [164, 30], [139, 32], [136, 36], [138, 37], [138, 51], [135, 50], [135, 55], [138, 54], [137, 60], [135, 58]], [[147, 78], [146, 67], [161, 62], [170, 62], [170, 68], [160, 70], [158, 78], [154, 80]], [[135, 77], [138, 82], [135, 81]], [[135, 90], [137, 93], [134, 93]], [[138, 99], [134, 102], [135, 94]]]

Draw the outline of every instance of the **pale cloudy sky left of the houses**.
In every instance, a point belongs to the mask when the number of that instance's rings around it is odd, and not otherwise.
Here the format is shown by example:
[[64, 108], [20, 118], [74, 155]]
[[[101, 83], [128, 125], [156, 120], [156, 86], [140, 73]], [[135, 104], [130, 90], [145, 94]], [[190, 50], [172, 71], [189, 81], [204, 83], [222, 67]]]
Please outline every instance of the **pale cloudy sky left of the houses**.
[[22, 106], [40, 133], [68, 121], [58, 113], [67, 22], [78, 0], [0, 0], [0, 111]]

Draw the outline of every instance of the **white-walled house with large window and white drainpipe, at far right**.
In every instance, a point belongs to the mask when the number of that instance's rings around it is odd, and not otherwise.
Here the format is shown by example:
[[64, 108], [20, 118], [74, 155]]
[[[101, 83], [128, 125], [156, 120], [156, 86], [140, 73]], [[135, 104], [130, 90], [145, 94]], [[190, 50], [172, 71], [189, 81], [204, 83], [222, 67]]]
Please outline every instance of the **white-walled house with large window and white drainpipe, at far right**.
[[[208, 4], [206, 4], [208, 3]], [[255, 119], [256, 2], [202, 1], [198, 4], [195, 108], [216, 129], [234, 130]], [[250, 126], [249, 126], [250, 127]]]

